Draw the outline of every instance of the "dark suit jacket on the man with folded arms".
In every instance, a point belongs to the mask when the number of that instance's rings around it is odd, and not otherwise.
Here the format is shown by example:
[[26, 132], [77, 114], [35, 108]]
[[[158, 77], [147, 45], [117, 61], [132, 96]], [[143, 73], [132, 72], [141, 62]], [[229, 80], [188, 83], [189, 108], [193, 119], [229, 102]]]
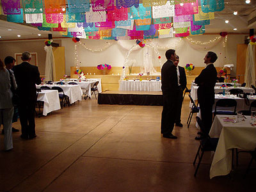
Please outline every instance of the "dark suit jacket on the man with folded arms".
[[200, 75], [195, 78], [198, 84], [197, 97], [198, 101], [211, 102], [214, 104], [214, 86], [216, 83], [217, 71], [213, 64], [208, 65], [202, 70]]

